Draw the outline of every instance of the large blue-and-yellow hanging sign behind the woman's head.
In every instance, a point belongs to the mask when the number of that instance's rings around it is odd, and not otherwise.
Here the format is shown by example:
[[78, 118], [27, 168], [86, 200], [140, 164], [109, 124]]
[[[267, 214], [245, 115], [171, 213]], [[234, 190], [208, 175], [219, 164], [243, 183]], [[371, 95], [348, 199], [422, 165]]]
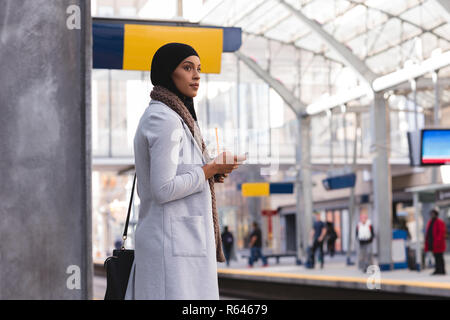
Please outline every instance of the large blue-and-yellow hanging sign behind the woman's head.
[[241, 33], [240, 28], [94, 18], [93, 67], [150, 71], [159, 47], [182, 42], [198, 52], [203, 73], [220, 73], [222, 52], [239, 50]]

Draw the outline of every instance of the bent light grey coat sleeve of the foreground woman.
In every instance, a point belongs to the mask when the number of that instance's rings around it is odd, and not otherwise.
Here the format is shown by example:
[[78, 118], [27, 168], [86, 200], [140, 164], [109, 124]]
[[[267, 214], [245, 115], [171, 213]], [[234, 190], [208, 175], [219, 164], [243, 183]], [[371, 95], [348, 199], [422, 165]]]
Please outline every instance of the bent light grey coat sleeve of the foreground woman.
[[150, 154], [150, 192], [159, 204], [178, 200], [205, 188], [201, 166], [177, 175], [183, 127], [174, 115], [153, 112], [144, 134]]

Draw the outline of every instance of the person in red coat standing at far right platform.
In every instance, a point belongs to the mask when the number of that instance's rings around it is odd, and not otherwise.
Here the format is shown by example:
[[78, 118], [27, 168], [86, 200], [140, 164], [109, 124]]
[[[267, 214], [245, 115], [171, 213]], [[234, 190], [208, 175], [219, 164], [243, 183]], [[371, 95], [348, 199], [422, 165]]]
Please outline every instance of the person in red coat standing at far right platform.
[[434, 255], [435, 270], [432, 275], [445, 274], [445, 223], [438, 218], [439, 212], [437, 210], [431, 210], [430, 215], [431, 219], [428, 221], [425, 234], [425, 252], [431, 251]]

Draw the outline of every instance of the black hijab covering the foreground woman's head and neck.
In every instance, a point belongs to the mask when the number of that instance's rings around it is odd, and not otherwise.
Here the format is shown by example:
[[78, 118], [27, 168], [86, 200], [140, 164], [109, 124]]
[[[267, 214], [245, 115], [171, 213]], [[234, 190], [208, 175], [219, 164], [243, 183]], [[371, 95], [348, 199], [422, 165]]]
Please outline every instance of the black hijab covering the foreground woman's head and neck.
[[195, 121], [194, 99], [182, 94], [172, 80], [172, 73], [187, 57], [199, 56], [191, 46], [184, 43], [168, 43], [159, 48], [152, 60], [151, 80], [154, 86], [162, 86], [175, 93], [184, 103]]

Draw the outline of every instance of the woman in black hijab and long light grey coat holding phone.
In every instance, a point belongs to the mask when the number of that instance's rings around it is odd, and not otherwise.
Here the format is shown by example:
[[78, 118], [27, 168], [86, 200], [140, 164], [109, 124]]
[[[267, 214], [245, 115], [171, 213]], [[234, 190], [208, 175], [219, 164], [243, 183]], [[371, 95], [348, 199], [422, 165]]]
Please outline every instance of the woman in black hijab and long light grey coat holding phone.
[[134, 138], [141, 205], [125, 299], [218, 299], [217, 261], [225, 257], [214, 182], [245, 158], [209, 158], [193, 104], [200, 58], [192, 47], [159, 48], [151, 80], [152, 100]]

